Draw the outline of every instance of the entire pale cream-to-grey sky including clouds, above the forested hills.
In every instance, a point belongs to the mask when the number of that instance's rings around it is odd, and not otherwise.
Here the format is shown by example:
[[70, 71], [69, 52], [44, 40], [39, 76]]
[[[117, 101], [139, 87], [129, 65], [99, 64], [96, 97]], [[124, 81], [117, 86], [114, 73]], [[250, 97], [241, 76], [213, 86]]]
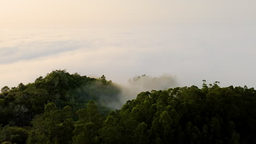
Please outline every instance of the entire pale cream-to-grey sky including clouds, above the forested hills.
[[0, 0], [0, 87], [51, 70], [256, 86], [256, 1]]

